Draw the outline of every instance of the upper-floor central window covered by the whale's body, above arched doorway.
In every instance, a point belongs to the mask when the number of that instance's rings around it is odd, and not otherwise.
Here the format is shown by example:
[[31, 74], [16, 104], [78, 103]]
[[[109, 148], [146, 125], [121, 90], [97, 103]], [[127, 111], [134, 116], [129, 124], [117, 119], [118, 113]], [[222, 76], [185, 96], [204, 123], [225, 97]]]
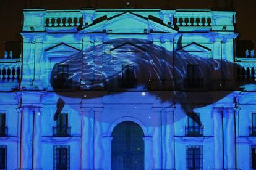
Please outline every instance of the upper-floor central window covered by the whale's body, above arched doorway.
[[122, 87], [133, 88], [134, 81], [134, 65], [122, 66]]

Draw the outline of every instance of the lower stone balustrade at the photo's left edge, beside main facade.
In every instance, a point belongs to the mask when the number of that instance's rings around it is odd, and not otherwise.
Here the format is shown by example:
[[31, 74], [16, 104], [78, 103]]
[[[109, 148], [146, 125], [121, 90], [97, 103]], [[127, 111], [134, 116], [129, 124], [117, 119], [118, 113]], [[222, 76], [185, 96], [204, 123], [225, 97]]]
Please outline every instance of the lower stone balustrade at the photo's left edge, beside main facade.
[[9, 81], [19, 81], [21, 75], [20, 67], [20, 62], [0, 61], [0, 83], [6, 83]]

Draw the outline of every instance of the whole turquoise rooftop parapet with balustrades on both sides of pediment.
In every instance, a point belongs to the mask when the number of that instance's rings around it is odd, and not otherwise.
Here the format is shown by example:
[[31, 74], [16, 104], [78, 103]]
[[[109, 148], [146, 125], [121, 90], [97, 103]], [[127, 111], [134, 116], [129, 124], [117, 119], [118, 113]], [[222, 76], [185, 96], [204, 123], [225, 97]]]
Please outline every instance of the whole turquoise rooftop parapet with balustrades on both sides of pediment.
[[[132, 13], [141, 13], [141, 9], [130, 9]], [[119, 12], [127, 12], [127, 9], [120, 9]], [[74, 26], [88, 26], [93, 20], [107, 15], [111, 18], [116, 11], [106, 12], [105, 10], [81, 9], [81, 10], [45, 10], [45, 9], [24, 9], [24, 16], [27, 18], [23, 23], [23, 31], [44, 31], [45, 28], [66, 28]], [[96, 15], [97, 14], [97, 15]], [[155, 10], [154, 15], [170, 26], [185, 27], [193, 29], [200, 27], [211, 28], [215, 31], [234, 30], [236, 12], [211, 11], [211, 10]], [[148, 16], [145, 16], [148, 17]], [[87, 23], [87, 24], [86, 24]], [[55, 30], [56, 31], [56, 30]], [[61, 31], [61, 30], [59, 30]], [[192, 31], [192, 30], [181, 30]]]

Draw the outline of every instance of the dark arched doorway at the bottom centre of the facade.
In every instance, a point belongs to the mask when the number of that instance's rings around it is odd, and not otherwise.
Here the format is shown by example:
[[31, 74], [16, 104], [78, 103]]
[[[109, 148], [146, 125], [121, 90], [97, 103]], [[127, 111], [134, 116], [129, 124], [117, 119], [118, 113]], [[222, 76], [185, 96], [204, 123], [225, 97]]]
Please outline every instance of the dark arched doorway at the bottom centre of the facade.
[[114, 127], [112, 136], [112, 170], [144, 169], [142, 128], [132, 121], [124, 121]]

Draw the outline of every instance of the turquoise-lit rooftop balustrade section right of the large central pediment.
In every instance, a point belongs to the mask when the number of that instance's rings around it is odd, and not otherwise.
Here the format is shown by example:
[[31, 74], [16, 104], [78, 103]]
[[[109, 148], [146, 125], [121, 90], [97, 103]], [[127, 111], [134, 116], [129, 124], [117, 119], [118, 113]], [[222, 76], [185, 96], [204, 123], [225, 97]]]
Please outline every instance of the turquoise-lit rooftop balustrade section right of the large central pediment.
[[174, 14], [176, 26], [211, 26], [212, 14], [209, 11], [177, 10]]

